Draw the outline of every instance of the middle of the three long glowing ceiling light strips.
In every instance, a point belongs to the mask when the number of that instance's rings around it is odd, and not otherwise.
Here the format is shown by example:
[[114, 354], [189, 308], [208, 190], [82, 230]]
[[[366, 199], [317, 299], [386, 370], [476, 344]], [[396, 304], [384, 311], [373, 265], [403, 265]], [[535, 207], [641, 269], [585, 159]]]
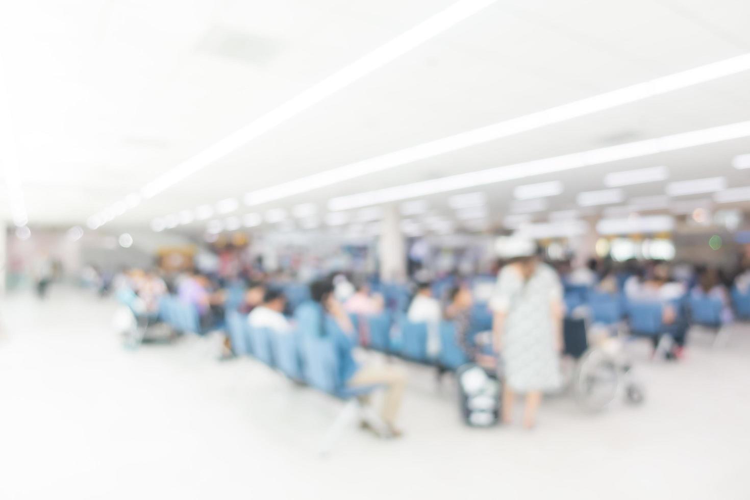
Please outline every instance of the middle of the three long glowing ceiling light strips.
[[750, 53], [694, 67], [691, 70], [661, 76], [660, 78], [652, 79], [647, 82], [637, 83], [615, 91], [587, 97], [586, 99], [575, 100], [568, 104], [544, 109], [529, 115], [499, 121], [498, 123], [488, 125], [487, 127], [481, 127], [467, 132], [458, 133], [454, 136], [444, 137], [443, 139], [425, 142], [410, 148], [404, 148], [389, 154], [369, 158], [368, 160], [350, 163], [335, 169], [308, 175], [275, 186], [251, 191], [251, 193], [248, 193], [248, 195], [245, 196], [245, 202], [247, 202], [248, 205], [260, 205], [262, 203], [272, 202], [296, 194], [307, 193], [310, 190], [338, 184], [343, 181], [361, 177], [362, 175], [381, 172], [386, 169], [392, 169], [395, 166], [413, 163], [417, 160], [424, 160], [425, 158], [467, 148], [472, 145], [478, 145], [483, 142], [493, 141], [502, 137], [513, 136], [517, 133], [534, 130], [550, 124], [556, 124], [570, 120], [571, 118], [590, 115], [594, 112], [603, 111], [604, 109], [611, 109], [616, 106], [622, 106], [623, 104], [634, 103], [638, 100], [646, 99], [647, 97], [654, 97], [679, 88], [709, 82], [713, 79], [718, 79], [722, 76], [739, 73], [745, 70], [750, 70]]

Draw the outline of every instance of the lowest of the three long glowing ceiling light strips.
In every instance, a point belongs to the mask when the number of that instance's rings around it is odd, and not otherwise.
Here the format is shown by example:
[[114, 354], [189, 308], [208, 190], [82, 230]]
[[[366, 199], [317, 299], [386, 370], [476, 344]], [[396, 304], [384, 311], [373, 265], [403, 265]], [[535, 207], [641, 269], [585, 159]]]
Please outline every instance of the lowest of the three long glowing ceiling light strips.
[[648, 156], [649, 154], [666, 151], [676, 151], [677, 149], [712, 144], [714, 142], [738, 139], [739, 137], [746, 136], [750, 136], [750, 121], [740, 121], [739, 123], [722, 125], [721, 127], [693, 130], [691, 132], [677, 133], [672, 136], [663, 136], [656, 139], [628, 142], [607, 148], [581, 151], [580, 153], [564, 154], [541, 160], [512, 163], [511, 165], [498, 166], [492, 169], [449, 175], [448, 177], [431, 179], [430, 181], [403, 184], [401, 186], [366, 191], [348, 196], [338, 196], [331, 199], [328, 205], [329, 209], [334, 211], [380, 205], [381, 203], [395, 202], [401, 199], [446, 193], [483, 186], [484, 184], [531, 177], [533, 175], [580, 169], [584, 166], [593, 166], [599, 163], [626, 160], [628, 158]]

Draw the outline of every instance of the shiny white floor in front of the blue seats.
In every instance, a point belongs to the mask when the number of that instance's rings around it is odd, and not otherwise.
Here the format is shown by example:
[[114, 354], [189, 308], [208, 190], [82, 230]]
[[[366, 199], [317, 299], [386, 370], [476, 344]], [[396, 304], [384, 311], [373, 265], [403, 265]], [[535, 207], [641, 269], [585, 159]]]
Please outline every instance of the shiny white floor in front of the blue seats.
[[52, 289], [0, 309], [0, 499], [748, 499], [750, 327], [637, 370], [643, 406], [547, 400], [538, 428], [463, 427], [455, 387], [410, 367], [407, 434], [350, 430], [341, 403], [208, 343], [122, 349], [113, 304]]

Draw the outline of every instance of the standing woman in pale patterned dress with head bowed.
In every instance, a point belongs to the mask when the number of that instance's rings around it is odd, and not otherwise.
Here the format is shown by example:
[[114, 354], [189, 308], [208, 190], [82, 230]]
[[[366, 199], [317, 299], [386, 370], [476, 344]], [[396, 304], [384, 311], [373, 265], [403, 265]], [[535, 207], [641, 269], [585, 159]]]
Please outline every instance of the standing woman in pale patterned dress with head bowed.
[[502, 238], [497, 250], [508, 259], [490, 302], [494, 349], [504, 367], [502, 421], [511, 423], [515, 396], [525, 394], [523, 427], [530, 429], [541, 394], [560, 385], [562, 285], [550, 266], [538, 262], [533, 241]]

